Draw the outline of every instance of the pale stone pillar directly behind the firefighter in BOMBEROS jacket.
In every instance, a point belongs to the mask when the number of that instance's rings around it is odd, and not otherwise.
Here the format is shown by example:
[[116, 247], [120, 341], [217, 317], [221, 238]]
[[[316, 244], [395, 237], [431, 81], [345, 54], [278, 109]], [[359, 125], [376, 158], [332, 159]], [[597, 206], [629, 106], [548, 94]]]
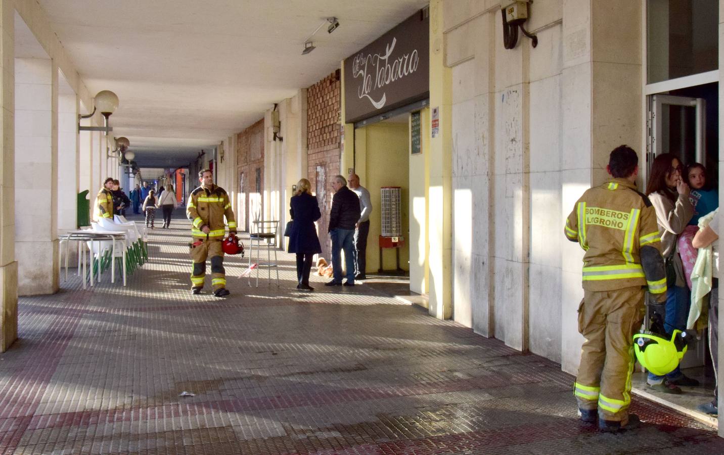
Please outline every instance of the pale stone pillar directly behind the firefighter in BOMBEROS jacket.
[[[565, 0], [563, 5], [563, 218], [587, 188], [605, 181], [615, 146], [640, 143], [641, 7], [627, 0]], [[572, 374], [583, 342], [574, 330], [583, 296], [582, 257], [577, 244], [563, 242], [561, 366]]]

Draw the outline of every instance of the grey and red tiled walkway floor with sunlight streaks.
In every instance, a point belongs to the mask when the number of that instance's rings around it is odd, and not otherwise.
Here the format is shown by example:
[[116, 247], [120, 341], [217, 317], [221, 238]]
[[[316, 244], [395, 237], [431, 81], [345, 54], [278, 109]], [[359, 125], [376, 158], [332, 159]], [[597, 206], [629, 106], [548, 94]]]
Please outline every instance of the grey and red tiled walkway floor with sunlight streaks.
[[[429, 317], [385, 285], [188, 292], [188, 222], [151, 235], [127, 288], [20, 300], [0, 355], [0, 451], [14, 454], [722, 453], [715, 432], [633, 398], [621, 435], [576, 419], [560, 366]], [[392, 283], [391, 288], [396, 288]], [[195, 393], [180, 397], [182, 391]]]

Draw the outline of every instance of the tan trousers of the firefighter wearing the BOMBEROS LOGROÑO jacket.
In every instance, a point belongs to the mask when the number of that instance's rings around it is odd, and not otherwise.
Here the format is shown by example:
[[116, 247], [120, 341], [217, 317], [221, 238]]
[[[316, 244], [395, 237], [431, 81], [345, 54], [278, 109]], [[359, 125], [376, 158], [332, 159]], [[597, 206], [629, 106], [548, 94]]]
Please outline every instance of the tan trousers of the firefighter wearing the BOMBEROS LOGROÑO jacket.
[[641, 327], [644, 311], [641, 286], [584, 291], [578, 332], [585, 341], [573, 392], [578, 409], [597, 409], [599, 419], [628, 423], [633, 334]]

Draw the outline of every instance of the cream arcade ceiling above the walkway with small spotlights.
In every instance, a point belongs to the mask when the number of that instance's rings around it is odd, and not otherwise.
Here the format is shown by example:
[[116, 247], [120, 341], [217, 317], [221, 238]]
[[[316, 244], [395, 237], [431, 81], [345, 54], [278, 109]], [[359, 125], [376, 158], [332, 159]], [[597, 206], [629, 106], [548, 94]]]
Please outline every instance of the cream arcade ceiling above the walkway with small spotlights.
[[[426, 0], [38, 0], [90, 93], [120, 105], [115, 136], [144, 166], [188, 164], [256, 122]], [[305, 39], [316, 49], [301, 55]]]

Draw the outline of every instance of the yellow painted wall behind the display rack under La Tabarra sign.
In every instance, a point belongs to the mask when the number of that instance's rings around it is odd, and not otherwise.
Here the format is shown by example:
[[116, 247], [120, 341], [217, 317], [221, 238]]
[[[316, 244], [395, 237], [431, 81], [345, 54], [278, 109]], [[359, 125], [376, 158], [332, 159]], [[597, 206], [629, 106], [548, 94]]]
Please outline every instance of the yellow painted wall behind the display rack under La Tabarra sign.
[[[407, 123], [375, 123], [355, 131], [355, 165], [361, 185], [369, 190], [372, 214], [367, 238], [367, 270], [379, 269], [379, 235], [382, 233], [380, 188], [402, 188], [402, 225], [405, 246], [400, 248], [400, 268], [409, 270], [409, 133]], [[395, 249], [384, 249], [383, 267], [395, 268]]]

